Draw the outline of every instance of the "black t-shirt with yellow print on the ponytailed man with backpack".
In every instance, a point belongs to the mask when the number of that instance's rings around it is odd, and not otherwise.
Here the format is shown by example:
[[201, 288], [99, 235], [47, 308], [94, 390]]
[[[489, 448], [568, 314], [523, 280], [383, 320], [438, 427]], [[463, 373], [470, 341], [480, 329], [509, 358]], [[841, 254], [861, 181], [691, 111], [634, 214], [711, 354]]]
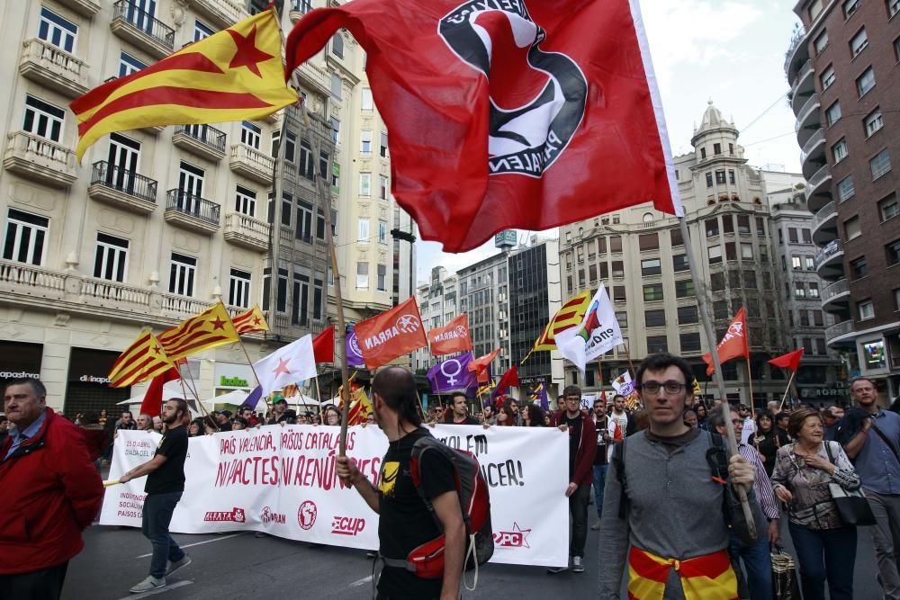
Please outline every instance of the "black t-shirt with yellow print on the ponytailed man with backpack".
[[[441, 534], [428, 506], [412, 483], [410, 454], [421, 437], [431, 435], [422, 427], [390, 443], [378, 477], [380, 492], [378, 540], [383, 556], [406, 560], [410, 551]], [[438, 452], [424, 452], [422, 489], [429, 499], [456, 489], [453, 464]], [[421, 579], [403, 569], [385, 567], [378, 591], [392, 599], [437, 598], [441, 579]]]

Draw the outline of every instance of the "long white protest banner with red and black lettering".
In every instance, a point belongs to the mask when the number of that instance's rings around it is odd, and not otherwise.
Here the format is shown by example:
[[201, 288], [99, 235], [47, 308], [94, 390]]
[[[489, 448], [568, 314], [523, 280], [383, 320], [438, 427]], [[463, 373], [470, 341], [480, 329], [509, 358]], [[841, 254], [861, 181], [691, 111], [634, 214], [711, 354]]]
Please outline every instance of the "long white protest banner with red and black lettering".
[[[338, 479], [339, 427], [269, 425], [190, 438], [184, 496], [173, 533], [259, 531], [279, 537], [374, 550], [378, 515]], [[473, 452], [491, 488], [491, 562], [568, 564], [569, 436], [555, 427], [437, 425], [453, 448]], [[159, 434], [121, 430], [110, 479], [149, 461]], [[388, 441], [373, 425], [351, 427], [347, 456], [377, 487]], [[106, 490], [100, 524], [139, 527], [146, 478]]]

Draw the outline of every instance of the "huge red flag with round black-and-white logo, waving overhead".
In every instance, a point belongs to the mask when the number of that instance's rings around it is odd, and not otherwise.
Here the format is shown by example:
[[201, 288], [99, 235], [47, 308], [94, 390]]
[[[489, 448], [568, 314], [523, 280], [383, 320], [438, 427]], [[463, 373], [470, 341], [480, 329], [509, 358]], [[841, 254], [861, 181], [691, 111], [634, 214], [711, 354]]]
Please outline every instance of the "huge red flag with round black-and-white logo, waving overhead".
[[340, 28], [366, 52], [392, 193], [446, 251], [644, 202], [683, 214], [637, 0], [354, 0], [297, 22], [287, 75]]

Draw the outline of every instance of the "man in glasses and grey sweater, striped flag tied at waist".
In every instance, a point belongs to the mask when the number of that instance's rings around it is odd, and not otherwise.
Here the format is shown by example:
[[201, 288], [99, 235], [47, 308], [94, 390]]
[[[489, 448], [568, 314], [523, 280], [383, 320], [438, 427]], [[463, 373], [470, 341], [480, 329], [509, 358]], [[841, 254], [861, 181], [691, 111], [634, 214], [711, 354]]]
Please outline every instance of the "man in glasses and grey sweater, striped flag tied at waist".
[[739, 453], [727, 459], [718, 434], [684, 424], [693, 377], [687, 361], [667, 353], [638, 367], [649, 426], [617, 444], [609, 464], [599, 541], [602, 599], [620, 597], [626, 557], [634, 597], [737, 597], [729, 524], [743, 541], [754, 540], [736, 486], [747, 492], [757, 534], [766, 531], [752, 491], [753, 465]]

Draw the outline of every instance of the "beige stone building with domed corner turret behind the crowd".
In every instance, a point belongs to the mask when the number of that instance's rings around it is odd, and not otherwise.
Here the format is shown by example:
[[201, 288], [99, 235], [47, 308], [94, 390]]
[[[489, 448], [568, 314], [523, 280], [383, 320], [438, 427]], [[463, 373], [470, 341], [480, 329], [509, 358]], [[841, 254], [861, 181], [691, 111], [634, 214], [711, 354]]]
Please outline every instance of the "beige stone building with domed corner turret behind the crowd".
[[[709, 103], [691, 139], [694, 152], [675, 157], [681, 200], [693, 242], [700, 291], [721, 339], [742, 307], [747, 313], [752, 388], [756, 406], [784, 391], [780, 372], [766, 361], [787, 350], [779, 309], [779, 276], [774, 268], [770, 208], [759, 170], [747, 165], [738, 130]], [[566, 383], [588, 391], [609, 389], [609, 381], [644, 357], [669, 351], [686, 357], [706, 381], [701, 356], [709, 347], [699, 323], [697, 292], [691, 281], [678, 220], [650, 204], [599, 215], [560, 228], [563, 298], [599, 282], [607, 286], [626, 344], [590, 363], [583, 376], [566, 365]], [[750, 401], [747, 364], [725, 363], [729, 399]], [[776, 378], [773, 380], [773, 378]], [[710, 391], [710, 394], [712, 391]]]

